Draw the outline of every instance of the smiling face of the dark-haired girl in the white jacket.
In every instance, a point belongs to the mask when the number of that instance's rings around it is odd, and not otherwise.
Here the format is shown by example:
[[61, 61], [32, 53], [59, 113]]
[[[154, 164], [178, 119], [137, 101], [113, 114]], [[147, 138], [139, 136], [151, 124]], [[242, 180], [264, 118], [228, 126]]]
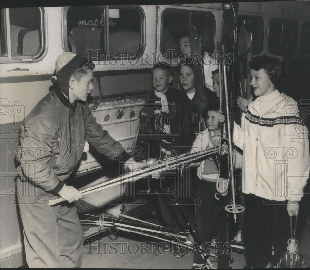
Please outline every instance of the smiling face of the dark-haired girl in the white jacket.
[[270, 76], [264, 69], [260, 69], [259, 71], [251, 69], [251, 85], [255, 96], [267, 96], [275, 90]]

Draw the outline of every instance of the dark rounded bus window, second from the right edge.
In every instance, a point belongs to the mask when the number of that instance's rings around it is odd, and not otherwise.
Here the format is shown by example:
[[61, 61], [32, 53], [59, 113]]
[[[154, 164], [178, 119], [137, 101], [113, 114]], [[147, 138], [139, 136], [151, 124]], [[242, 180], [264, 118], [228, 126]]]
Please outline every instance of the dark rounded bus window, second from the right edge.
[[269, 26], [268, 50], [271, 54], [293, 53], [297, 47], [298, 22], [272, 18]]

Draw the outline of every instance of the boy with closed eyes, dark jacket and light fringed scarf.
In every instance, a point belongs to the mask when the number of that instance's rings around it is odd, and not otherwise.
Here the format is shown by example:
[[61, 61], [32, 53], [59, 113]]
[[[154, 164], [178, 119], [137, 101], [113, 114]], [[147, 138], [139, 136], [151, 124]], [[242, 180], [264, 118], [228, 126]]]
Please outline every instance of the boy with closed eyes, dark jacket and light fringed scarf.
[[173, 81], [171, 66], [157, 63], [151, 73], [154, 93], [141, 111], [136, 145], [143, 149], [145, 161], [165, 158], [172, 149], [177, 154], [185, 153], [194, 140], [186, 97], [178, 89], [169, 87]]

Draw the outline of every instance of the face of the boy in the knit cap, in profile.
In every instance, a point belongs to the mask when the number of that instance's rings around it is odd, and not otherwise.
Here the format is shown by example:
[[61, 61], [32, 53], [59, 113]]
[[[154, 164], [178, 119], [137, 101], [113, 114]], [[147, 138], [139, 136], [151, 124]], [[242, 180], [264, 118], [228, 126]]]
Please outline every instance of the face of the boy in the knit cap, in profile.
[[94, 88], [92, 83], [93, 78], [94, 75], [92, 70], [89, 70], [88, 73], [84, 75], [79, 82], [73, 77], [71, 77], [70, 89], [69, 89], [70, 91], [69, 96], [71, 103], [73, 103], [75, 100], [82, 100], [82, 101], [87, 100], [88, 94]]

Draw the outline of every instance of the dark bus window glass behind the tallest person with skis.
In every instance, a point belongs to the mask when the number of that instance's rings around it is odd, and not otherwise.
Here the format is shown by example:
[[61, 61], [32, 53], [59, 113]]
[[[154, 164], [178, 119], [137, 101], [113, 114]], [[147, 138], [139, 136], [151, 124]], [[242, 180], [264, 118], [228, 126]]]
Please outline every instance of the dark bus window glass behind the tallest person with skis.
[[166, 58], [177, 57], [176, 53], [180, 52], [179, 36], [187, 31], [189, 22], [197, 28], [202, 52], [213, 52], [215, 19], [211, 12], [167, 8], [162, 14], [160, 37], [160, 50]]

